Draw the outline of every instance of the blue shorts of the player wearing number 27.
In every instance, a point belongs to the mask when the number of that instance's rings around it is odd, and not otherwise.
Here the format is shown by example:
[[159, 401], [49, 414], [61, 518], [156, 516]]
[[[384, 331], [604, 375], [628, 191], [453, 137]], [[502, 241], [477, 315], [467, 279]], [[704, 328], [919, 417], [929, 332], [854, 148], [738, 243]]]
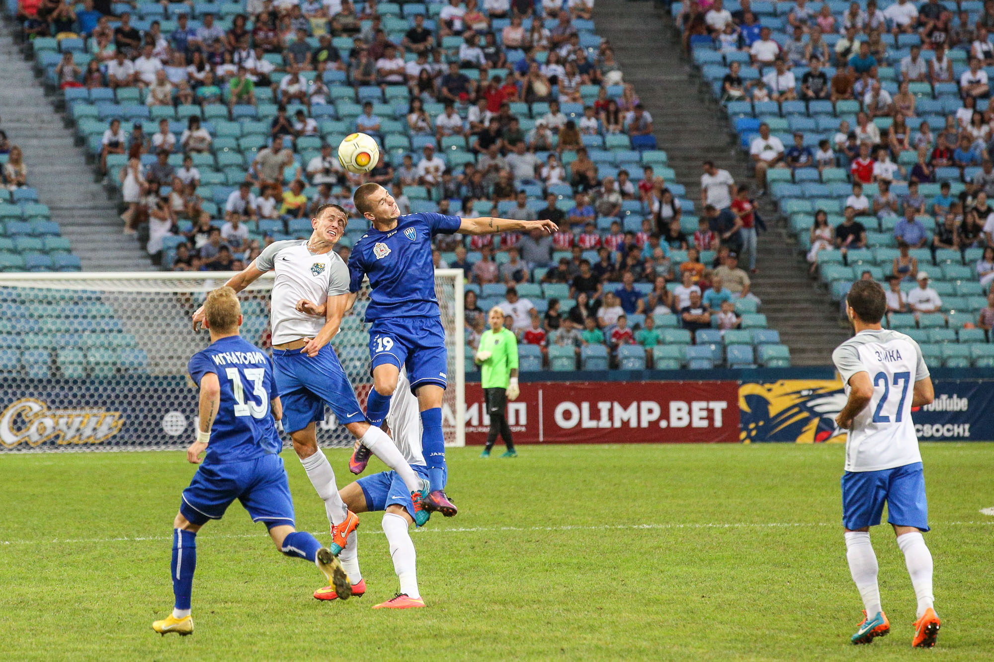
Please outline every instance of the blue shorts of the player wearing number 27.
[[842, 475], [842, 526], [850, 531], [877, 526], [885, 502], [889, 524], [928, 531], [921, 462], [880, 471], [847, 471]]

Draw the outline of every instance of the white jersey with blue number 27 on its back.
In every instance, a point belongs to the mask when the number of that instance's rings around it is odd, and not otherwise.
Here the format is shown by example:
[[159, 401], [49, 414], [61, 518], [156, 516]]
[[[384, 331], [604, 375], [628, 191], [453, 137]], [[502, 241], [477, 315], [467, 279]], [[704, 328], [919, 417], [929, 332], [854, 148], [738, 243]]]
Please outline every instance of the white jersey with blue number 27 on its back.
[[914, 383], [928, 377], [921, 349], [889, 329], [860, 331], [832, 352], [846, 396], [849, 379], [867, 373], [874, 392], [853, 419], [846, 439], [846, 471], [880, 471], [921, 461], [911, 420]]

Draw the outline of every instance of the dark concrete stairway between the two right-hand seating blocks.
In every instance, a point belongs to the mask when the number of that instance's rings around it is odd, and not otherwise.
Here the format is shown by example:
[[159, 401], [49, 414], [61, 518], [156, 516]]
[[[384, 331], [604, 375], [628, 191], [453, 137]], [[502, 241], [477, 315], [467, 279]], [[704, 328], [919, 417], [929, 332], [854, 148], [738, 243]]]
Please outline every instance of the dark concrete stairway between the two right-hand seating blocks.
[[[687, 197], [699, 207], [701, 164], [712, 160], [737, 182], [752, 184], [752, 168], [711, 89], [682, 53], [672, 17], [654, 3], [613, 0], [594, 5], [597, 34], [606, 38], [652, 114], [656, 140], [669, 154]], [[754, 188], [754, 187], [753, 187]], [[768, 198], [759, 201], [768, 232], [760, 233], [752, 290], [770, 328], [790, 347], [793, 365], [825, 365], [849, 336], [838, 308], [807, 276], [807, 264]]]

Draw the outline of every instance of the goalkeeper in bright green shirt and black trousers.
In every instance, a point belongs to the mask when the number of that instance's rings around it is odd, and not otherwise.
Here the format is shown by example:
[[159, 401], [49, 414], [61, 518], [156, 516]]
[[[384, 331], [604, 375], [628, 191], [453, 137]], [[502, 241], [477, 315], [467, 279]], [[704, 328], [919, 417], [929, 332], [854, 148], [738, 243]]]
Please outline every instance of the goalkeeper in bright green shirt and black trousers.
[[511, 426], [507, 424], [507, 401], [517, 400], [518, 389], [518, 339], [514, 333], [504, 328], [504, 311], [494, 306], [487, 313], [490, 330], [480, 336], [480, 347], [474, 360], [480, 367], [483, 401], [490, 414], [490, 431], [487, 433], [487, 446], [480, 457], [490, 457], [490, 449], [500, 434], [507, 445], [507, 452], [501, 457], [517, 457], [514, 441], [511, 439]]

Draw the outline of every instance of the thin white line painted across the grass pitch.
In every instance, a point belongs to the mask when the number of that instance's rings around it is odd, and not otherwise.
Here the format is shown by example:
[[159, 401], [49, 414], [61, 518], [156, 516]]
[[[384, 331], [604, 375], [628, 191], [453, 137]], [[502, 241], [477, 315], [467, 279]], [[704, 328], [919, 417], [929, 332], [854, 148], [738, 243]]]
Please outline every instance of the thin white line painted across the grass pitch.
[[[666, 530], [666, 529], [786, 529], [786, 528], [804, 528], [804, 527], [840, 527], [840, 523], [830, 524], [828, 522], [757, 522], [757, 523], [690, 523], [690, 524], [616, 524], [608, 526], [561, 526], [561, 527], [454, 527], [454, 528], [444, 528], [444, 529], [417, 529], [414, 531], [417, 535], [425, 535], [431, 533], [501, 533], [505, 531], [516, 531], [521, 533], [529, 532], [539, 532], [539, 531], [603, 531], [605, 529], [614, 530], [638, 530], [638, 529], [651, 529], [651, 530]], [[942, 522], [936, 523], [936, 526], [941, 527], [959, 527], [959, 526], [994, 526], [994, 521], [983, 521], [983, 522]], [[325, 535], [323, 532], [311, 532], [315, 536]], [[363, 531], [363, 535], [382, 535], [382, 531]], [[219, 535], [212, 536], [210, 533], [207, 536], [202, 536], [201, 540], [205, 538], [211, 539], [222, 539], [222, 538], [259, 538], [263, 537], [264, 534], [261, 532], [254, 534], [235, 534], [235, 535]], [[77, 538], [77, 539], [59, 539], [56, 538], [51, 541], [39, 541], [39, 540], [5, 540], [0, 541], [0, 545], [38, 545], [38, 544], [58, 544], [58, 545], [74, 545], [74, 544], [86, 544], [86, 543], [141, 543], [146, 541], [170, 541], [172, 536], [145, 536], [145, 537], [121, 537], [121, 538]]]

